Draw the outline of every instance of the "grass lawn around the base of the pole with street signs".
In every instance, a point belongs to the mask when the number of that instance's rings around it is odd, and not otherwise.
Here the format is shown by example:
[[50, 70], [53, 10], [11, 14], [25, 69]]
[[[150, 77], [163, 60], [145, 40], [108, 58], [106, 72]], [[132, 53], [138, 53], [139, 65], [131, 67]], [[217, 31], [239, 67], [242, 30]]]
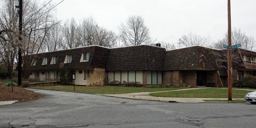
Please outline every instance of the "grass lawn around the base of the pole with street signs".
[[[243, 98], [251, 90], [232, 89], [233, 98]], [[226, 88], [208, 88], [195, 90], [180, 90], [174, 92], [149, 93], [151, 96], [174, 98], [227, 98]]]

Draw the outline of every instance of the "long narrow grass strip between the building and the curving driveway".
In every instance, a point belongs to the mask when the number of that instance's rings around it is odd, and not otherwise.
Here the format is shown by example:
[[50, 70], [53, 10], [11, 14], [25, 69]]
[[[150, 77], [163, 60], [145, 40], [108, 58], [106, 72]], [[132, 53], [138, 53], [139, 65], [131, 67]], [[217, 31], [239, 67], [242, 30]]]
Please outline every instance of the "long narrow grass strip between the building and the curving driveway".
[[[73, 92], [73, 86], [32, 86], [30, 89], [49, 89], [49, 90], [64, 90]], [[99, 93], [99, 94], [117, 94], [117, 93], [133, 93], [133, 92], [157, 92], [163, 90], [176, 90], [181, 88], [138, 88], [138, 87], [121, 87], [121, 86], [101, 86], [101, 87], [86, 87], [75, 86], [76, 92]]]

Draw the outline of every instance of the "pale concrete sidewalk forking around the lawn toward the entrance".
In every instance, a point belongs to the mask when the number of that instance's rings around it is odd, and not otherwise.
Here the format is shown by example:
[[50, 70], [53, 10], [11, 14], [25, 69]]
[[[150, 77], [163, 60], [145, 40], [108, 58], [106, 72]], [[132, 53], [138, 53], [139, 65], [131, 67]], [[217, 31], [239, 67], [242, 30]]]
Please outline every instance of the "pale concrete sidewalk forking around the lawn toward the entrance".
[[[174, 92], [174, 91], [180, 91], [180, 90], [194, 90], [194, 89], [202, 89], [202, 88], [166, 90], [166, 91], [160, 91], [160, 92]], [[141, 99], [141, 100], [149, 100], [149, 101], [161, 101], [161, 102], [191, 102], [191, 103], [205, 102], [204, 100], [212, 100], [212, 99], [217, 99], [217, 100], [227, 99], [227, 98], [167, 98], [167, 97], [151, 96], [149, 95], [149, 93], [156, 93], [156, 92], [122, 93], [122, 94], [111, 94], [111, 95], [104, 95], [104, 96], [127, 98], [127, 99]], [[243, 100], [243, 98], [233, 98], [233, 100]]]

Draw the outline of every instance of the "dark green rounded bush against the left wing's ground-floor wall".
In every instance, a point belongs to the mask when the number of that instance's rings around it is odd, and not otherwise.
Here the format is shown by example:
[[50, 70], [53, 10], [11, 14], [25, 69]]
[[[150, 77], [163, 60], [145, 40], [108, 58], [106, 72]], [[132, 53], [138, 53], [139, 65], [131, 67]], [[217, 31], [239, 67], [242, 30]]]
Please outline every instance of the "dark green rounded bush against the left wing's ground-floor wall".
[[60, 70], [60, 83], [63, 85], [70, 84], [72, 82], [71, 71], [67, 70], [67, 68], [61, 68]]

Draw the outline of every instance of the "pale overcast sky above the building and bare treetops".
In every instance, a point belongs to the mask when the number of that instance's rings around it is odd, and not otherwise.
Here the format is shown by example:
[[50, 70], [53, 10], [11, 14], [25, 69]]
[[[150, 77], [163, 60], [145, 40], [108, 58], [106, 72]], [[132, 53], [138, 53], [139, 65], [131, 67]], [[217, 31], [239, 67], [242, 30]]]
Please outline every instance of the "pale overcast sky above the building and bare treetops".
[[[256, 36], [255, 5], [256, 0], [231, 0], [232, 29]], [[93, 17], [115, 33], [130, 15], [141, 15], [151, 37], [169, 43], [189, 32], [212, 41], [227, 32], [227, 0], [65, 0], [56, 11], [58, 20]]]

